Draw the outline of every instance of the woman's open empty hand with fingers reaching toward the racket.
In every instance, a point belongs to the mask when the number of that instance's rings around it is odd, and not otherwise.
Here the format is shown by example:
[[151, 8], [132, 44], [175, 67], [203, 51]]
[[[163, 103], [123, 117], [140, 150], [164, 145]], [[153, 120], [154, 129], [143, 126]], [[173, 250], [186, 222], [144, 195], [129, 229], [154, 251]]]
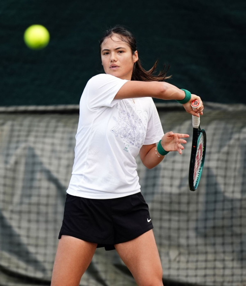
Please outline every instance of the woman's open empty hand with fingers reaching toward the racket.
[[161, 138], [160, 144], [165, 151], [178, 151], [179, 154], [182, 154], [186, 140], [181, 138], [188, 138], [188, 134], [173, 133], [172, 131], [165, 133]]

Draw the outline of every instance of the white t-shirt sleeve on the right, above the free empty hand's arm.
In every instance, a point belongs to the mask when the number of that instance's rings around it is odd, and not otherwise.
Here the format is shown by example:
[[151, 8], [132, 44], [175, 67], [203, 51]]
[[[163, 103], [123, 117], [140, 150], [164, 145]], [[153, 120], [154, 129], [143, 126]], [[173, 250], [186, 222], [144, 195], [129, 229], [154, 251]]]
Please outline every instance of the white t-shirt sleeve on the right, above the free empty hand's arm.
[[150, 97], [150, 99], [151, 99], [152, 112], [149, 118], [146, 136], [145, 136], [143, 145], [150, 145], [150, 144], [157, 143], [164, 136], [164, 132], [162, 129], [162, 125], [160, 122], [160, 118], [159, 118], [159, 114], [157, 112], [156, 106], [154, 104], [152, 97]]

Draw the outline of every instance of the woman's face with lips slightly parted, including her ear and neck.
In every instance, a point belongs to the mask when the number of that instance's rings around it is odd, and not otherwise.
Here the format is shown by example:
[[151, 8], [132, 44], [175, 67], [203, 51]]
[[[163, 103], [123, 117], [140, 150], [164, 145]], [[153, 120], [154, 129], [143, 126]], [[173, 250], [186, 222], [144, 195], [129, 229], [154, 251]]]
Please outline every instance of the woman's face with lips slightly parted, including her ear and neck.
[[[130, 47], [117, 35], [103, 41], [101, 45], [101, 60], [105, 73], [121, 79], [131, 80], [133, 65], [138, 60], [138, 52], [132, 55]], [[117, 67], [111, 67], [116, 65]]]

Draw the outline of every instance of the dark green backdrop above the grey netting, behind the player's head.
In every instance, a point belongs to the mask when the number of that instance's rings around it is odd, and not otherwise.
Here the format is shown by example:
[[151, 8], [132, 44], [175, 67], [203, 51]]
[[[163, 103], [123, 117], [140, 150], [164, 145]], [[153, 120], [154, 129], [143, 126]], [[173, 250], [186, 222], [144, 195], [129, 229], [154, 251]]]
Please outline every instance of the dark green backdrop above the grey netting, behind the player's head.
[[[135, 35], [144, 68], [159, 59], [169, 83], [203, 101], [246, 103], [245, 14], [245, 0], [1, 1], [0, 105], [79, 104], [104, 72], [98, 41], [116, 24]], [[41, 51], [23, 41], [32, 24], [50, 32]]]

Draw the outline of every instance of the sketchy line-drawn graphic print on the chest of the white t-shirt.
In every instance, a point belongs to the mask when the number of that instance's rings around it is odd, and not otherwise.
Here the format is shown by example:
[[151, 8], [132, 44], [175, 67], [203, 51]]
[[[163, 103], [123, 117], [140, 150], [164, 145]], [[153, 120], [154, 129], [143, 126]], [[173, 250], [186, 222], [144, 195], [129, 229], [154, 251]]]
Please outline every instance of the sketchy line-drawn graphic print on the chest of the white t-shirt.
[[145, 139], [146, 129], [148, 125], [147, 111], [137, 110], [136, 107], [126, 103], [128, 111], [123, 109], [121, 103], [118, 103], [116, 108], [119, 109], [118, 119], [113, 116], [116, 125], [111, 128], [111, 132], [116, 137], [122, 138], [125, 143], [140, 148]]

